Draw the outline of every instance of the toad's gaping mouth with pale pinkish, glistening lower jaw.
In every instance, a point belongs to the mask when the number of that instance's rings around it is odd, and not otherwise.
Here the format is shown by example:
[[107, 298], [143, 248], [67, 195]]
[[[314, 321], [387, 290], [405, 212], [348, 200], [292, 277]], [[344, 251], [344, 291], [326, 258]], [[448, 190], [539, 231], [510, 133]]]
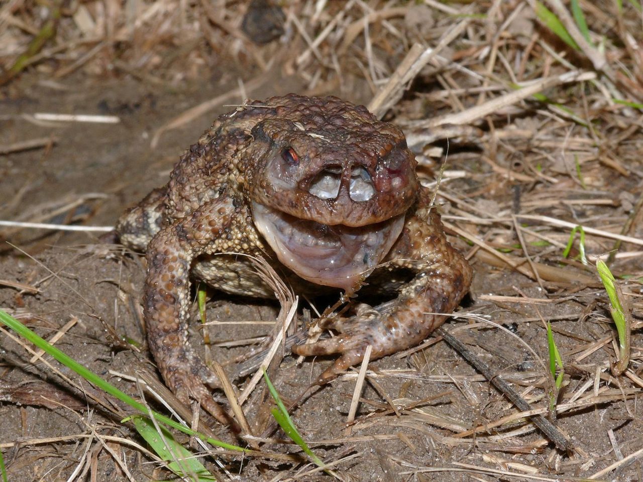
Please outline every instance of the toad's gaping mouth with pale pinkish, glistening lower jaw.
[[404, 214], [356, 228], [299, 219], [257, 202], [255, 226], [280, 262], [305, 280], [344, 290], [374, 269], [399, 237]]

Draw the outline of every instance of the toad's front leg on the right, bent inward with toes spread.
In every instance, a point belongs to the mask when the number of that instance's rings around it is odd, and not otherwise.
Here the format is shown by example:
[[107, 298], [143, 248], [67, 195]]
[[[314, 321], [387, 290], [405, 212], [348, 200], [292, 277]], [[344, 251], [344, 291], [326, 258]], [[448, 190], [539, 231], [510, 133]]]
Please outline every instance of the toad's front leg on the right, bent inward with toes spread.
[[293, 346], [298, 355], [340, 353], [319, 377], [324, 383], [362, 361], [368, 345], [371, 359], [421, 343], [455, 310], [471, 284], [471, 267], [444, 237], [435, 210], [418, 210], [407, 220], [401, 239], [392, 248], [389, 267], [412, 269], [415, 277], [393, 301], [338, 321], [336, 337]]

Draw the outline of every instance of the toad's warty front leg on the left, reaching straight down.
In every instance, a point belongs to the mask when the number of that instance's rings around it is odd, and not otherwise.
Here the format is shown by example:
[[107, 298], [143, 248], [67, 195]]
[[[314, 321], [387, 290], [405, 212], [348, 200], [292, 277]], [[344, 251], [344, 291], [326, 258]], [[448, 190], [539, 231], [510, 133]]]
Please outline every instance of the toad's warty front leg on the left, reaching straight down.
[[143, 298], [150, 351], [165, 383], [181, 402], [198, 400], [226, 425], [235, 424], [206, 387], [219, 386], [218, 380], [188, 343], [187, 327], [192, 260], [229, 248], [234, 220], [241, 215], [235, 204], [240, 206], [219, 197], [154, 235], [147, 250]]

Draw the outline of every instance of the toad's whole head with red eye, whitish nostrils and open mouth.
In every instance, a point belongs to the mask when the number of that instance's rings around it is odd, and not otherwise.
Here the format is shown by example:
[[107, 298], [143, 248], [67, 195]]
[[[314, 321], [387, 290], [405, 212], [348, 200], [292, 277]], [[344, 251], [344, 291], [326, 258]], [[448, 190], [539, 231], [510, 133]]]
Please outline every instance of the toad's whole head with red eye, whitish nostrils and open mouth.
[[251, 130], [246, 188], [279, 260], [320, 285], [353, 289], [399, 237], [418, 195], [403, 132], [337, 98], [268, 100]]

